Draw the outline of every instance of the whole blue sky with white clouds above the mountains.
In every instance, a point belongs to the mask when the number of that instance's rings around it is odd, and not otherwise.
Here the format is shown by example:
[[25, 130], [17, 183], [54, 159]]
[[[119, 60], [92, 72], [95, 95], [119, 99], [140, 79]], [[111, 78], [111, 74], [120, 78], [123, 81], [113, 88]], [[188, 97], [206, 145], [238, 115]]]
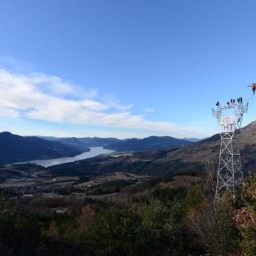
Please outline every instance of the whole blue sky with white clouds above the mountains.
[[[0, 1], [0, 130], [204, 138], [256, 81], [255, 1]], [[255, 120], [250, 101], [243, 125]]]

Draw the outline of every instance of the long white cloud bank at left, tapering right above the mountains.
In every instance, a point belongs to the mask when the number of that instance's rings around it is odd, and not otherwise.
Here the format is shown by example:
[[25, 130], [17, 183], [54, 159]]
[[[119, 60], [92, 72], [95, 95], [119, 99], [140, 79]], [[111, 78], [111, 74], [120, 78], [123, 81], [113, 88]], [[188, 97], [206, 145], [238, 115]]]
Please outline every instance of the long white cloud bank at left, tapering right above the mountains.
[[209, 134], [209, 131], [198, 127], [179, 127], [171, 122], [148, 121], [144, 116], [132, 115], [129, 110], [132, 104], [122, 106], [113, 99], [103, 102], [96, 99], [97, 92], [88, 92], [60, 77], [39, 73], [22, 75], [0, 70], [0, 115], [143, 129], [177, 137]]

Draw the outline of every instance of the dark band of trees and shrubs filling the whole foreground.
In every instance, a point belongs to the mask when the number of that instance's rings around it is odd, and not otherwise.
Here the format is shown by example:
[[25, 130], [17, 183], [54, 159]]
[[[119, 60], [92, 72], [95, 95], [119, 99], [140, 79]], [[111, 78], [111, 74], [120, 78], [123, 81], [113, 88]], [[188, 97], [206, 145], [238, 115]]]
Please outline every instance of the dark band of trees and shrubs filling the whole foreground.
[[139, 202], [83, 200], [61, 214], [39, 211], [42, 204], [60, 206], [54, 198], [1, 195], [0, 255], [256, 255], [256, 175], [236, 203], [225, 193], [214, 203], [209, 172], [188, 188], [157, 188]]

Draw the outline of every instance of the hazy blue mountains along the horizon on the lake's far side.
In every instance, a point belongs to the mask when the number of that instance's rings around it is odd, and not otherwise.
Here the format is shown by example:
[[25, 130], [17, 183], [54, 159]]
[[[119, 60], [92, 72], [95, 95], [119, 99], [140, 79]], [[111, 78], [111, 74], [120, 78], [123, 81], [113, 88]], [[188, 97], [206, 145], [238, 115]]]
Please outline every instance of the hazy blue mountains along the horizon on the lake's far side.
[[116, 138], [55, 138], [18, 136], [10, 132], [0, 133], [0, 164], [12, 164], [35, 159], [51, 159], [76, 156], [90, 151], [90, 147], [105, 147], [115, 151], [156, 150], [177, 148], [189, 141], [168, 136], [151, 136], [144, 139], [118, 140]]

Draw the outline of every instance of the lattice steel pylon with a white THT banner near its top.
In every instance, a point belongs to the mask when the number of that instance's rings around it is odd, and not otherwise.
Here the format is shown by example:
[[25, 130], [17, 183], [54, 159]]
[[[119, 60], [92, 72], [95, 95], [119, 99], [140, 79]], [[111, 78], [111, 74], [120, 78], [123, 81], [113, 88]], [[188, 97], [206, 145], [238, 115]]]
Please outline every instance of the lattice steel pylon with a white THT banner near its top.
[[[247, 113], [248, 102], [243, 104], [242, 98], [221, 106], [216, 104], [212, 109], [220, 125], [220, 159], [218, 166], [216, 198], [220, 198], [223, 189], [227, 189], [236, 198], [236, 187], [243, 184], [243, 170], [239, 151], [239, 133], [244, 113]], [[229, 115], [225, 115], [228, 112]], [[230, 114], [231, 113], [231, 114]]]

